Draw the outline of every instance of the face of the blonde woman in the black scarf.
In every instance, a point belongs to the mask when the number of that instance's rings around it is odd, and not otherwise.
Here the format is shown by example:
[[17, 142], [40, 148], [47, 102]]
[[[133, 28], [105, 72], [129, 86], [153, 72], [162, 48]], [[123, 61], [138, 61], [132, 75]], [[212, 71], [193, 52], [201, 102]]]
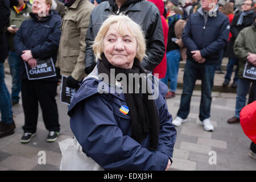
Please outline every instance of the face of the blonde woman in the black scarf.
[[[126, 27], [124, 27], [126, 28]], [[128, 30], [126, 32], [129, 32]], [[104, 40], [104, 54], [109, 63], [118, 68], [132, 68], [137, 53], [137, 42], [134, 36], [121, 35], [117, 30], [117, 23], [112, 24]]]

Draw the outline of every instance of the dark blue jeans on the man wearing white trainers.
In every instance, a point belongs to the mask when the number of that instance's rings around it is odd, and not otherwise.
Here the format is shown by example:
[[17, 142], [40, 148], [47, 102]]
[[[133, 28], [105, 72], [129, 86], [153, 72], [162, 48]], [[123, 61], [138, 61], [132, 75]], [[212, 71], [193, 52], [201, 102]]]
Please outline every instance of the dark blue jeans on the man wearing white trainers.
[[210, 118], [210, 105], [212, 104], [212, 86], [215, 73], [214, 64], [199, 64], [187, 60], [183, 76], [183, 92], [181, 94], [180, 108], [177, 116], [187, 118], [190, 111], [190, 102], [193, 89], [200, 74], [201, 84], [201, 102], [200, 102], [200, 121]]

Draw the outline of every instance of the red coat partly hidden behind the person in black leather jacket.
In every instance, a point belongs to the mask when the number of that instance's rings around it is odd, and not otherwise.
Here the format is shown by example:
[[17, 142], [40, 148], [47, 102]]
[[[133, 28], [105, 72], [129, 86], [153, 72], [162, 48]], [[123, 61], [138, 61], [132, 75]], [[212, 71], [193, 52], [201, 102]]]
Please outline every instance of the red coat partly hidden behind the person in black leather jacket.
[[[156, 5], [160, 11], [161, 20], [162, 20], [162, 27], [163, 27], [163, 35], [164, 35], [164, 44], [167, 46], [167, 40], [168, 40], [168, 24], [166, 22], [166, 19], [164, 18], [164, 2], [163, 0], [148, 0]], [[161, 63], [155, 67], [153, 70], [153, 75], [155, 73], [158, 73], [158, 78], [164, 78], [166, 76], [166, 70], [167, 70], [167, 59], [166, 59], [166, 51], [164, 52], [164, 57]]]

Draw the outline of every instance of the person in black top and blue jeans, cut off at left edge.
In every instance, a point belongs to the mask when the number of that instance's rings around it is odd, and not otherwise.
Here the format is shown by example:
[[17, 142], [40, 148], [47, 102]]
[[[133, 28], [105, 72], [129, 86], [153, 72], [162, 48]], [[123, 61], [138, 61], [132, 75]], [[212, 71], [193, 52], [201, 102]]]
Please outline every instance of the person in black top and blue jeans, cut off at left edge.
[[8, 55], [5, 29], [9, 25], [10, 5], [17, 6], [18, 4], [19, 1], [16, 0], [0, 0], [0, 138], [13, 134], [15, 129], [10, 93], [5, 85], [3, 63]]

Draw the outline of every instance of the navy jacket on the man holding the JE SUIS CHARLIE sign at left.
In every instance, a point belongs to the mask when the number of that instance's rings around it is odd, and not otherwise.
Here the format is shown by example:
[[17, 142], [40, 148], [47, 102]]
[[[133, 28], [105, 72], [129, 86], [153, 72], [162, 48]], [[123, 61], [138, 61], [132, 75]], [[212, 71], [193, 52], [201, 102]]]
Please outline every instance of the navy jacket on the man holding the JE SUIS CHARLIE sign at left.
[[[35, 59], [52, 57], [53, 61], [56, 62], [61, 35], [60, 16], [50, 13], [40, 20], [35, 14], [30, 13], [30, 16], [31, 19], [24, 20], [14, 36], [15, 52], [20, 57], [23, 54], [22, 51], [31, 50]], [[24, 63], [20, 64], [20, 78], [27, 79]], [[56, 77], [45, 79], [58, 81]]]

